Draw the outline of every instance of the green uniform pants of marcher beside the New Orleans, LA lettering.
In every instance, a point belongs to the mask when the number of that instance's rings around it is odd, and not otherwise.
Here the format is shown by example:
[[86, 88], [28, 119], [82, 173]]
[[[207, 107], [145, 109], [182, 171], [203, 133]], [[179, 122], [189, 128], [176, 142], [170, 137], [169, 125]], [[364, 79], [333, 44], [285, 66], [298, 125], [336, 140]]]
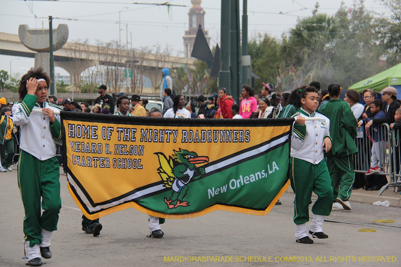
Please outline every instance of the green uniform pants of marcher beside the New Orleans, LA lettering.
[[291, 188], [295, 193], [294, 222], [302, 224], [309, 221], [309, 202], [312, 191], [317, 194], [312, 213], [328, 216], [331, 212], [333, 189], [330, 175], [324, 160], [312, 164], [305, 160], [290, 159]]

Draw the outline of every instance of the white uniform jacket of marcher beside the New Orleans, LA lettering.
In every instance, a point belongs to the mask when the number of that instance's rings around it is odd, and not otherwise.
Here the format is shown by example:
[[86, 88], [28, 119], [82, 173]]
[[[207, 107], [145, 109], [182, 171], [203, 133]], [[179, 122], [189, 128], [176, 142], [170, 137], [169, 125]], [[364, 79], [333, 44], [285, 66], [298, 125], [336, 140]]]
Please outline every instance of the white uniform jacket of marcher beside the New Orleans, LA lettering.
[[309, 114], [303, 108], [292, 117], [320, 117], [319, 121], [305, 121], [305, 125], [294, 122], [291, 137], [291, 157], [303, 159], [312, 164], [323, 160], [323, 139], [330, 137], [330, 120], [323, 114], [313, 112]]

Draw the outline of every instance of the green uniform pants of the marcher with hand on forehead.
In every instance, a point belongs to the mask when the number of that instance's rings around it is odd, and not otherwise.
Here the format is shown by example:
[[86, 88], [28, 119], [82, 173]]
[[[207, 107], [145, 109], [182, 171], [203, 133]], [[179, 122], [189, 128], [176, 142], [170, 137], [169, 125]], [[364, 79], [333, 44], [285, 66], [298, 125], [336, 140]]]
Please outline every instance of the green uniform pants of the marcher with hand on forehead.
[[42, 161], [21, 150], [18, 186], [25, 209], [25, 241], [29, 241], [32, 247], [42, 243], [41, 228], [47, 231], [57, 230], [61, 198], [60, 169], [56, 157]]

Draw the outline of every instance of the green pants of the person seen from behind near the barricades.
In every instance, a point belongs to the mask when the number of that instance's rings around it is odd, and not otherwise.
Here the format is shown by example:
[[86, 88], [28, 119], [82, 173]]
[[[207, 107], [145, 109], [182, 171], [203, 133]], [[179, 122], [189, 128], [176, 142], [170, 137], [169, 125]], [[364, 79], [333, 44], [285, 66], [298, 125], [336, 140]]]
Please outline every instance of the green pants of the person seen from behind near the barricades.
[[333, 203], [336, 202], [335, 199], [337, 197], [347, 201], [351, 196], [352, 184], [355, 179], [352, 155], [340, 158], [327, 157], [327, 167], [330, 172], [331, 186], [333, 187]]

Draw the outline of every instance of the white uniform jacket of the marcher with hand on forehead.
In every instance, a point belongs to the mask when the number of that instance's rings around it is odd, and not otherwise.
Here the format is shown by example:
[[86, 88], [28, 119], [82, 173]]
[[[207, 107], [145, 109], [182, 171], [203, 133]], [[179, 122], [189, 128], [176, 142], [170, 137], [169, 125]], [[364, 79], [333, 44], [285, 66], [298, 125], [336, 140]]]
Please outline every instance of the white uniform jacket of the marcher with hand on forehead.
[[[38, 98], [27, 94], [22, 102], [13, 106], [14, 123], [20, 125], [20, 148], [39, 160], [47, 160], [56, 156], [56, 143], [62, 144], [60, 115], [51, 125], [49, 117], [42, 113], [32, 113], [40, 109]], [[44, 108], [61, 110], [57, 105], [43, 102]]]

